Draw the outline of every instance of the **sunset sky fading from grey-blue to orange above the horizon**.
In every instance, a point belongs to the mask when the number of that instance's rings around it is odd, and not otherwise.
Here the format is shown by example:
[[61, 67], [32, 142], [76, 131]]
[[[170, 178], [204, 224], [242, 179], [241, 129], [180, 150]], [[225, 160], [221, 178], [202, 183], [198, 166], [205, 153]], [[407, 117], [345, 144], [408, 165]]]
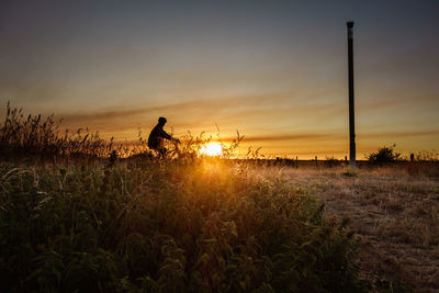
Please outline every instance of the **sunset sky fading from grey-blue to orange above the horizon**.
[[[1, 1], [0, 117], [63, 117], [116, 140], [245, 135], [266, 156], [439, 146], [439, 1]], [[244, 150], [245, 153], [245, 150]]]

